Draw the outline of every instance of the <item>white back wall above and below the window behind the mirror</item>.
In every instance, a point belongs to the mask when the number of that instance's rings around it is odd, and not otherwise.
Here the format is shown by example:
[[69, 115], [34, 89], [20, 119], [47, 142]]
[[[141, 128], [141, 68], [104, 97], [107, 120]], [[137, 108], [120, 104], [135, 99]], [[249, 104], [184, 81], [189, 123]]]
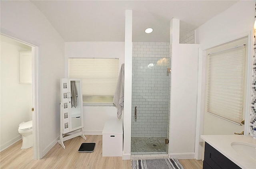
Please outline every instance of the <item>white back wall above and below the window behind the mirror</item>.
[[[68, 78], [68, 58], [119, 58], [119, 70], [124, 63], [124, 42], [66, 42], [65, 78]], [[64, 78], [64, 77], [63, 77]], [[102, 134], [105, 121], [116, 117], [114, 106], [84, 106], [84, 133]]]

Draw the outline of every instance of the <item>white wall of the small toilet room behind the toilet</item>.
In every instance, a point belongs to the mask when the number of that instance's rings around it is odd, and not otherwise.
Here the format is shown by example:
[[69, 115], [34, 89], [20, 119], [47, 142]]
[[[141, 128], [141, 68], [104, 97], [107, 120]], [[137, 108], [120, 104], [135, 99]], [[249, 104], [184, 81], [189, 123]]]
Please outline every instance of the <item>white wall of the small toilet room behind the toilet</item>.
[[32, 120], [32, 85], [20, 84], [19, 51], [31, 51], [31, 47], [1, 35], [0, 150], [20, 140], [19, 124]]

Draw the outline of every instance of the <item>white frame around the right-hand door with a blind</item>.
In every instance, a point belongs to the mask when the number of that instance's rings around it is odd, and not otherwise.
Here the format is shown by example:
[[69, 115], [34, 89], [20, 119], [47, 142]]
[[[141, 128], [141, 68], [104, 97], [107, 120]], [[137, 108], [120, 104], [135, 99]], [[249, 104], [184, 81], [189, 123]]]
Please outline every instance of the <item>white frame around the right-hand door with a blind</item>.
[[[204, 130], [204, 100], [205, 100], [205, 70], [206, 70], [206, 50], [212, 47], [240, 39], [242, 37], [248, 37], [248, 56], [253, 56], [253, 32], [248, 31], [246, 33], [234, 36], [229, 39], [221, 39], [218, 43], [207, 44], [200, 46], [198, 57], [198, 98], [197, 98], [197, 113], [196, 113], [196, 141], [195, 141], [195, 159], [202, 159], [203, 140], [200, 138], [203, 135]], [[245, 98], [245, 112], [248, 112], [244, 116], [244, 134], [249, 134], [250, 131], [250, 104], [251, 104], [251, 86], [252, 86], [252, 59], [247, 61], [246, 79], [246, 98]]]

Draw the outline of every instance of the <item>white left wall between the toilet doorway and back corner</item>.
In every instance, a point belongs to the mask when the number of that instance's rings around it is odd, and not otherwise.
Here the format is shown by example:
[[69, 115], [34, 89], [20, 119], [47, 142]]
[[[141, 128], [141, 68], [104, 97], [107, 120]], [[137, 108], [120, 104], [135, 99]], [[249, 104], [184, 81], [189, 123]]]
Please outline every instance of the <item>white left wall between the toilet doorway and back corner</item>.
[[60, 78], [64, 77], [64, 40], [30, 1], [1, 1], [1, 33], [38, 46], [40, 157], [60, 133]]

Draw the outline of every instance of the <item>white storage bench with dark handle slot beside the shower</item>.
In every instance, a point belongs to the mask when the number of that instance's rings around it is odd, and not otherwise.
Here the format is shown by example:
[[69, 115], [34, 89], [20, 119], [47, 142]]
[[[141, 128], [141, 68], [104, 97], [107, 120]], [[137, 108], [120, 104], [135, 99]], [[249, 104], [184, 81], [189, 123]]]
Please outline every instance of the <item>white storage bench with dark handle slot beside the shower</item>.
[[121, 157], [123, 155], [122, 119], [113, 118], [105, 122], [102, 130], [102, 156]]

